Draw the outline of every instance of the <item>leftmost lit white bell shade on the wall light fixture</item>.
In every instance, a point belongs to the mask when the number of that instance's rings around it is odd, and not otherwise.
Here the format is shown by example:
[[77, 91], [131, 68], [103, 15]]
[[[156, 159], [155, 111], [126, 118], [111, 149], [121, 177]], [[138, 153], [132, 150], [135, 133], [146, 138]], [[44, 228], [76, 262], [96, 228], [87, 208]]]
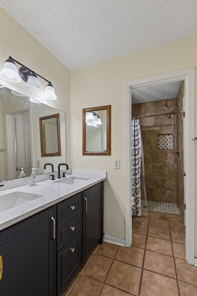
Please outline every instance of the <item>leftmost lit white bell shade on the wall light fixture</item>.
[[10, 82], [20, 82], [21, 78], [18, 75], [18, 70], [15, 63], [11, 59], [7, 59], [0, 72], [0, 77]]

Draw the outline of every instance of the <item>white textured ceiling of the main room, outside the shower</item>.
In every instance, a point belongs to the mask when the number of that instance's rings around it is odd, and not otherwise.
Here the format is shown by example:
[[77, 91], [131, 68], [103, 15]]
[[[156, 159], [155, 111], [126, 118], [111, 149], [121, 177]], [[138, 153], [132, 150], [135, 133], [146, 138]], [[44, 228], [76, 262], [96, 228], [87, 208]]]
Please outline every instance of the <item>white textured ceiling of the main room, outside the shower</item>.
[[0, 0], [70, 70], [197, 33], [196, 0]]

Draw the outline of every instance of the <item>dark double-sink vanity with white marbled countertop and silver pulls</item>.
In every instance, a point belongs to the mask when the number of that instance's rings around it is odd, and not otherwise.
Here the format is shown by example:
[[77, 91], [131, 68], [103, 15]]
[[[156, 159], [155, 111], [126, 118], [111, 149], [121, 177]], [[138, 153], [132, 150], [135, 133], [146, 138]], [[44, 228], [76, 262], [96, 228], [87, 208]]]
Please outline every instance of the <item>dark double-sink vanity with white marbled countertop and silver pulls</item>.
[[[41, 187], [41, 183], [45, 183], [45, 187], [51, 185], [50, 196], [58, 192], [56, 199], [54, 197], [50, 202], [46, 202], [44, 190], [35, 186], [45, 197], [45, 205], [40, 201], [40, 208], [32, 212], [25, 210], [25, 218], [20, 217], [21, 221], [0, 231], [0, 256], [3, 261], [0, 295], [62, 294], [95, 244], [103, 242], [105, 179], [92, 176], [92, 180], [90, 178], [83, 184], [63, 184], [51, 180], [38, 183]], [[22, 187], [33, 190], [28, 185]], [[69, 193], [60, 197], [63, 191]], [[37, 201], [41, 199], [43, 197]], [[35, 208], [35, 203], [29, 202], [29, 207], [34, 204]], [[35, 210], [37, 213], [32, 214]]]

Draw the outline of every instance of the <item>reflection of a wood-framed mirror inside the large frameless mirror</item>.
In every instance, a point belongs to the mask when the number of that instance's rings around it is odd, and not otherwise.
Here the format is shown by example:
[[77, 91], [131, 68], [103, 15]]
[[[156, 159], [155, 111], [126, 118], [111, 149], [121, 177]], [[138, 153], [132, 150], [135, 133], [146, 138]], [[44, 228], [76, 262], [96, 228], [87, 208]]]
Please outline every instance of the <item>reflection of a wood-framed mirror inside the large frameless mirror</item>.
[[42, 156], [61, 156], [59, 113], [39, 118]]

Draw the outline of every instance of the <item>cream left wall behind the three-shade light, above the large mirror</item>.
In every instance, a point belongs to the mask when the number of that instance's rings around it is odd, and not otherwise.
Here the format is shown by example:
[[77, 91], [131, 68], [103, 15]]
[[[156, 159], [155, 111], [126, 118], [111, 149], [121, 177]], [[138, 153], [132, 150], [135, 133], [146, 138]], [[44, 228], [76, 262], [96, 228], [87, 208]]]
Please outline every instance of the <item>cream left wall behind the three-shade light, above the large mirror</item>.
[[[66, 162], [70, 167], [70, 70], [54, 57], [41, 43], [38, 42], [24, 27], [10, 16], [0, 6], [0, 69], [5, 60], [12, 56], [39, 75], [51, 81], [57, 100], [42, 99], [42, 94], [32, 94], [24, 89], [25, 82], [11, 83], [0, 79], [0, 84], [12, 88], [34, 99], [39, 99], [54, 108], [66, 113]], [[42, 92], [47, 82], [39, 79]]]

